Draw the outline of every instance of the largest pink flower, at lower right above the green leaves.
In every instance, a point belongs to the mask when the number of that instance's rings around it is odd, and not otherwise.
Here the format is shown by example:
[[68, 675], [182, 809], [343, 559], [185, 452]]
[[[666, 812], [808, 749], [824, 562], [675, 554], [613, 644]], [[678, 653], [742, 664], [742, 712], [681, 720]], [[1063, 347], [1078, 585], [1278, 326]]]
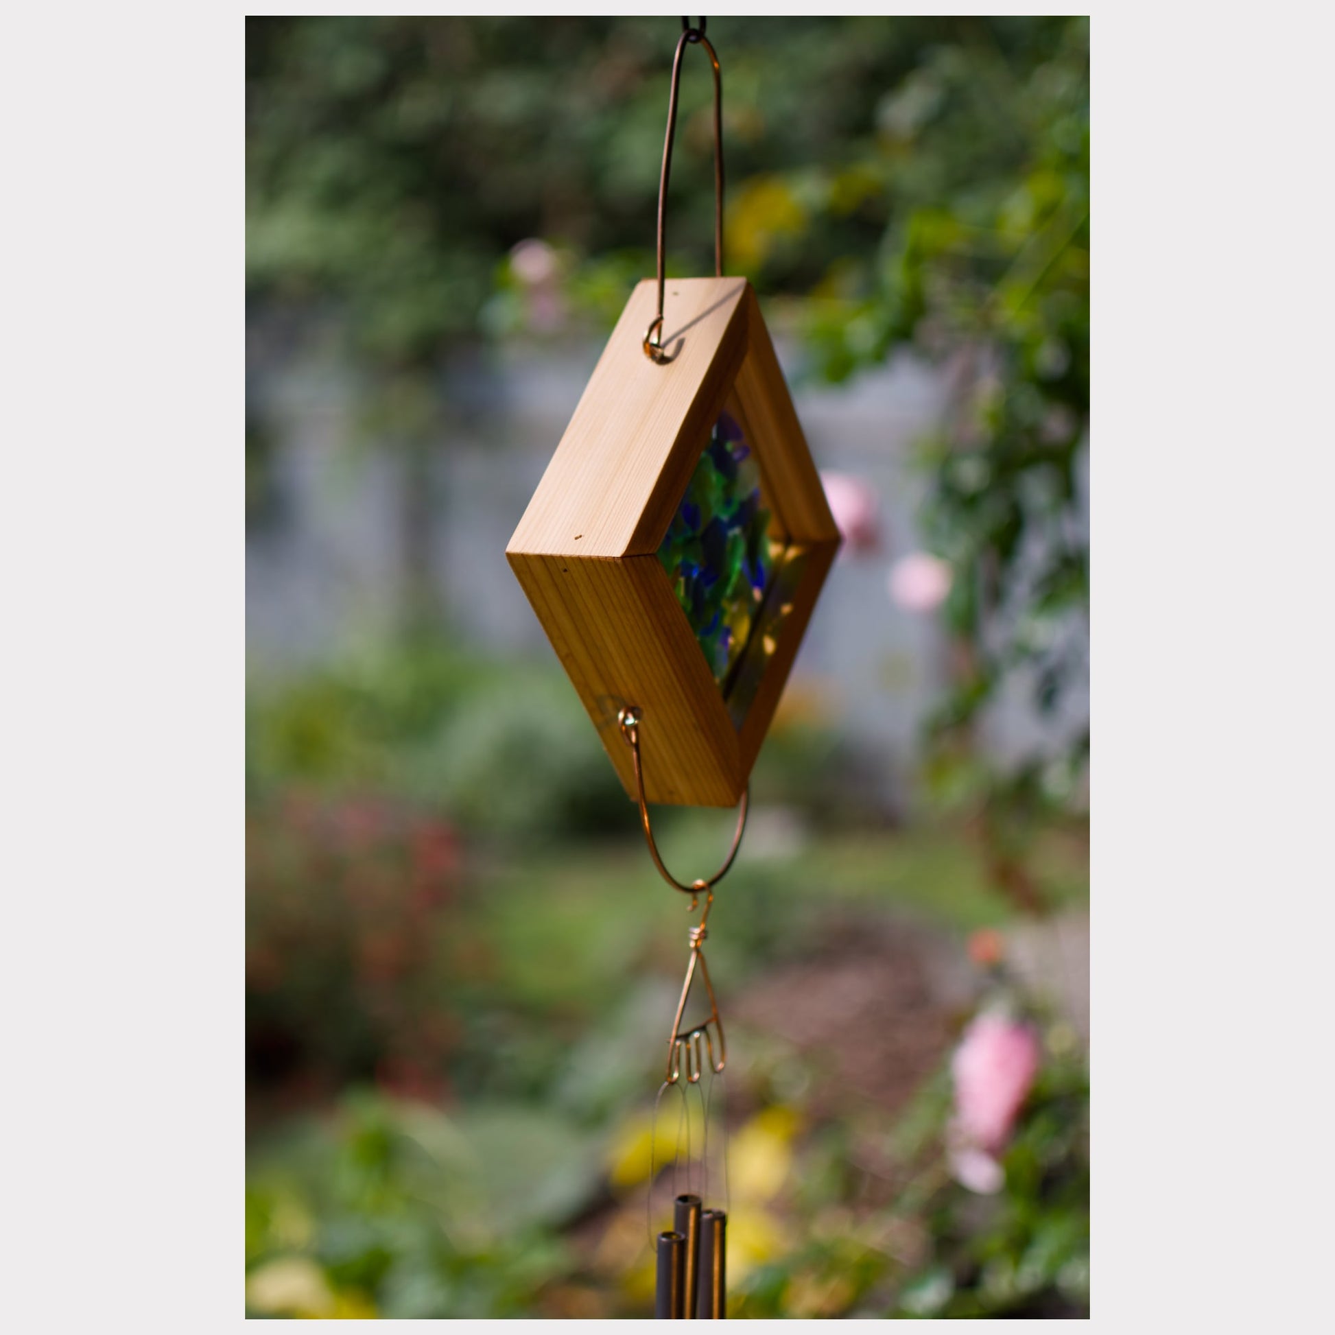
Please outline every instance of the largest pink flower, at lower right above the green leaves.
[[1027, 1024], [980, 1015], [965, 1029], [951, 1073], [955, 1128], [968, 1145], [996, 1155], [1039, 1073], [1039, 1040]]

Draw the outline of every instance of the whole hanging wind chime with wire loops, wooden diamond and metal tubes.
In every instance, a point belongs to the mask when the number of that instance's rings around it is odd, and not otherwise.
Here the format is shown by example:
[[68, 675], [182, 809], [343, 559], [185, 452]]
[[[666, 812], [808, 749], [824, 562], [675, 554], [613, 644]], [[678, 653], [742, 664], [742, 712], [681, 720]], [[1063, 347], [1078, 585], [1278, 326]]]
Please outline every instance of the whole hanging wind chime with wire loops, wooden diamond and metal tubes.
[[[688, 45], [708, 52], [714, 75], [714, 276], [668, 282], [663, 223]], [[690, 910], [704, 898], [659, 1097], [698, 1087], [706, 1072], [712, 1085], [728, 1060], [705, 925], [746, 828], [752, 766], [838, 543], [756, 294], [746, 279], [724, 278], [722, 79], [705, 20], [696, 28], [682, 19], [657, 280], [631, 292], [506, 547], [639, 805], [654, 866], [690, 896]], [[678, 881], [654, 844], [650, 802], [740, 804], [724, 865]], [[709, 1016], [684, 1028], [697, 976]], [[726, 1210], [706, 1210], [689, 1191], [677, 1196], [673, 1228], [655, 1244], [658, 1316], [725, 1315], [726, 1223]]]

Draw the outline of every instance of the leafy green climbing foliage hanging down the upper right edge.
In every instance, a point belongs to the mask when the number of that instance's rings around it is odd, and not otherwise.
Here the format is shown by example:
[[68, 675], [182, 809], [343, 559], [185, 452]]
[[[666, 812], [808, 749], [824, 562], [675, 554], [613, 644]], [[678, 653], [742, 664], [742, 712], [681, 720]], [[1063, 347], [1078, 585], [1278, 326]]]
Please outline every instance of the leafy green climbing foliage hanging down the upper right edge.
[[[1087, 631], [1072, 634], [1069, 617], [1088, 607], [1089, 29], [1071, 19], [1045, 32], [1021, 60], [976, 40], [924, 52], [880, 104], [874, 150], [830, 176], [820, 204], [837, 215], [856, 194], [884, 224], [874, 251], [832, 263], [809, 303], [824, 374], [844, 379], [904, 346], [949, 371], [948, 419], [921, 454], [926, 539], [955, 570], [939, 762], [1012, 673], [1052, 713], [1085, 666]], [[1084, 729], [1007, 796], [1028, 798], [1037, 781], [1068, 802], [1087, 752]]]

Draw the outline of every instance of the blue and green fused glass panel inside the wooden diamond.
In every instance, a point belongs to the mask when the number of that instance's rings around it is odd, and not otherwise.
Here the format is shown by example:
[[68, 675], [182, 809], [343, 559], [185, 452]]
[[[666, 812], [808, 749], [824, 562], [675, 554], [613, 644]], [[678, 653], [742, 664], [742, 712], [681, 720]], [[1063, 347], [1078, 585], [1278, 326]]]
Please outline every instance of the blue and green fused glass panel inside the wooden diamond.
[[668, 526], [658, 559], [714, 681], [729, 697], [749, 657], [748, 646], [772, 619], [768, 603], [784, 546], [770, 539], [769, 530], [756, 453], [737, 417], [725, 410]]

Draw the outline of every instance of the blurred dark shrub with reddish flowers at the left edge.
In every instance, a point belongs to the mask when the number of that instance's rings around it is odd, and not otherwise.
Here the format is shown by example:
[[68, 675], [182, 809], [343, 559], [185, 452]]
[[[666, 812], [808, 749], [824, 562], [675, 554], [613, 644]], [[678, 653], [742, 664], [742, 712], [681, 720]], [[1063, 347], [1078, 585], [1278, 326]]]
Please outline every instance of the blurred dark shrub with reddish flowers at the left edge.
[[291, 790], [247, 814], [246, 1052], [258, 1087], [376, 1076], [438, 1093], [454, 830], [383, 800]]

